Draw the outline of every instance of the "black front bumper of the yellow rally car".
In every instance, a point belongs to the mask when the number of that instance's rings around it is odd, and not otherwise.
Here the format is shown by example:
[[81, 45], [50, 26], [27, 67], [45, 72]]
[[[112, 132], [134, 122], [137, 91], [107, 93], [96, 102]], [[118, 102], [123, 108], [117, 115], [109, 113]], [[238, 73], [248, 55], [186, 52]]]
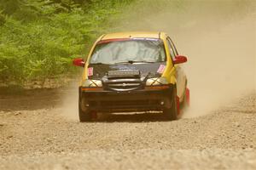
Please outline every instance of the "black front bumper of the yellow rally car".
[[127, 92], [84, 91], [79, 88], [82, 111], [163, 111], [171, 108], [174, 86], [164, 89], [140, 89]]

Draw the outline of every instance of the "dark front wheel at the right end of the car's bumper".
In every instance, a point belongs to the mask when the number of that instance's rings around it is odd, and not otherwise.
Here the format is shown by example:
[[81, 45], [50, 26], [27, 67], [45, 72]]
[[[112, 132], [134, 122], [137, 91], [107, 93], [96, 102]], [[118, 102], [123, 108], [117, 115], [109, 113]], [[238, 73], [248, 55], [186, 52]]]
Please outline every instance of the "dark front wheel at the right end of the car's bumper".
[[177, 120], [178, 110], [179, 110], [179, 99], [177, 97], [177, 90], [176, 88], [173, 89], [172, 93], [172, 106], [171, 108], [166, 108], [164, 110], [164, 115], [167, 120], [173, 121]]

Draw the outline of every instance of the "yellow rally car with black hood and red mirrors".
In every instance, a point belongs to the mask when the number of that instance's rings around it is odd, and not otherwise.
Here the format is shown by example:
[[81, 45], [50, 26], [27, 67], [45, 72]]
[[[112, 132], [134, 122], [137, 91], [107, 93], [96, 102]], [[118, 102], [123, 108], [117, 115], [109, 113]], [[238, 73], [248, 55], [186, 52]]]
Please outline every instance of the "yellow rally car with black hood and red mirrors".
[[175, 120], [180, 104], [189, 105], [187, 77], [164, 32], [119, 32], [102, 35], [86, 61], [79, 85], [79, 119], [90, 122], [97, 112], [163, 111]]

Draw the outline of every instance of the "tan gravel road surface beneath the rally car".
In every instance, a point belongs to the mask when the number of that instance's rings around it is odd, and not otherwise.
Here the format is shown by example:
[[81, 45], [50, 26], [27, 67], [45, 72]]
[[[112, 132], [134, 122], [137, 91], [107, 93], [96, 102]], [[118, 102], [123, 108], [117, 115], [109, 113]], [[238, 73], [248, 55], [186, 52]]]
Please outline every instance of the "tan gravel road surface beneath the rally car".
[[80, 123], [55, 91], [1, 94], [0, 169], [256, 169], [255, 100], [173, 122], [150, 113]]

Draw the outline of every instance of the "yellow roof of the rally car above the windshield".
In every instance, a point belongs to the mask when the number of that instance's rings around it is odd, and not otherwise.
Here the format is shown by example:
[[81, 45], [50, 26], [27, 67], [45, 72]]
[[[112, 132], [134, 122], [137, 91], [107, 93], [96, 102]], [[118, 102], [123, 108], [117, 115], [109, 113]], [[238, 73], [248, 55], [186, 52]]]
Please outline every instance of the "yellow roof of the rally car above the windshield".
[[131, 31], [131, 32], [116, 32], [105, 34], [101, 40], [118, 39], [118, 38], [160, 38], [161, 32], [159, 31]]

